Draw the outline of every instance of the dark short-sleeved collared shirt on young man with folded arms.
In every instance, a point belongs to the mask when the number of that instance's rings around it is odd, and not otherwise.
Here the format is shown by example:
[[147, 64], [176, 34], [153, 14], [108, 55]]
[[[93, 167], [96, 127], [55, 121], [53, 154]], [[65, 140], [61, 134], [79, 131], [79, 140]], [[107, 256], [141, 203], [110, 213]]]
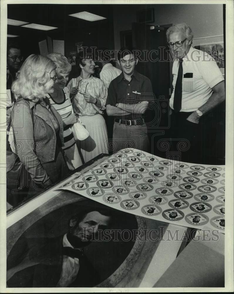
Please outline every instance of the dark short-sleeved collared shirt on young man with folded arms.
[[[131, 81], [127, 81], [121, 73], [117, 78], [110, 82], [106, 105], [115, 106], [116, 103], [138, 103], [140, 101], [152, 101], [154, 99], [151, 81], [146, 76], [137, 71], [131, 76]], [[133, 115], [125, 115], [120, 119], [132, 120]]]

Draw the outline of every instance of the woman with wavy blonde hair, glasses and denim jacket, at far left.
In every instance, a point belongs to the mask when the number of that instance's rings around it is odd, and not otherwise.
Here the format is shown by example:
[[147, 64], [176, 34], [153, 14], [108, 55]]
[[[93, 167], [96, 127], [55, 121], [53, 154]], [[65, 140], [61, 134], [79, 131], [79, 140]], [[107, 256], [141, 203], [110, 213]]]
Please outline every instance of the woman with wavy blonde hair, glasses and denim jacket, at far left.
[[32, 54], [11, 88], [14, 95], [21, 96], [14, 104], [12, 127], [16, 153], [32, 179], [29, 193], [43, 192], [69, 171], [61, 148], [63, 121], [46, 98], [54, 91], [55, 69], [49, 58]]

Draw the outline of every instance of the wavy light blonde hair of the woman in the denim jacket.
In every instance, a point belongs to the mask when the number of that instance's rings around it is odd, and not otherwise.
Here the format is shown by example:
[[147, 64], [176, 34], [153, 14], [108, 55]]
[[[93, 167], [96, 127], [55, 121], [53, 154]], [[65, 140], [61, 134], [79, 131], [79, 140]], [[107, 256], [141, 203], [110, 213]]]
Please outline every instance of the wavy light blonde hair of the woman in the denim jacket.
[[11, 91], [16, 96], [38, 102], [45, 97], [45, 84], [50, 80], [51, 71], [56, 69], [55, 63], [46, 56], [31, 54], [24, 61], [20, 74], [12, 83]]

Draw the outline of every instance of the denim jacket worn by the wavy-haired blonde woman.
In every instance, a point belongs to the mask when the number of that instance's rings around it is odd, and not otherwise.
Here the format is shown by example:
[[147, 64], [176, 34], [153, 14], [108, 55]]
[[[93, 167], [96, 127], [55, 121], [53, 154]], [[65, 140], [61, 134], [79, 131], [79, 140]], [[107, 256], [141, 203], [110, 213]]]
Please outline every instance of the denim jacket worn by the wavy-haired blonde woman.
[[[19, 99], [14, 104], [11, 118], [15, 152], [31, 178], [38, 184], [45, 183], [49, 179], [42, 166], [43, 163], [55, 159], [56, 144], [59, 147], [64, 146], [62, 118], [50, 105], [48, 98], [44, 98], [44, 101], [50, 112], [40, 103]], [[57, 140], [50, 115], [58, 121], [61, 142]]]

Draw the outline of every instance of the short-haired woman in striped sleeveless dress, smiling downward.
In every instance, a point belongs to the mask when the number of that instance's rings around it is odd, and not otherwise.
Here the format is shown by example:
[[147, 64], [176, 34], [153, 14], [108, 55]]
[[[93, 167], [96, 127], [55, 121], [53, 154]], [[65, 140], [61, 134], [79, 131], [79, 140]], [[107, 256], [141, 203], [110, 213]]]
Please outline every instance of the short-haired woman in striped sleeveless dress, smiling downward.
[[72, 104], [69, 98], [68, 88], [65, 87], [71, 71], [68, 59], [59, 53], [47, 55], [56, 65], [57, 81], [54, 84], [53, 93], [48, 93], [50, 104], [58, 111], [63, 120], [63, 138], [65, 158], [70, 170], [82, 165], [80, 154], [73, 137], [71, 126], [78, 121], [78, 115], [72, 113]]

